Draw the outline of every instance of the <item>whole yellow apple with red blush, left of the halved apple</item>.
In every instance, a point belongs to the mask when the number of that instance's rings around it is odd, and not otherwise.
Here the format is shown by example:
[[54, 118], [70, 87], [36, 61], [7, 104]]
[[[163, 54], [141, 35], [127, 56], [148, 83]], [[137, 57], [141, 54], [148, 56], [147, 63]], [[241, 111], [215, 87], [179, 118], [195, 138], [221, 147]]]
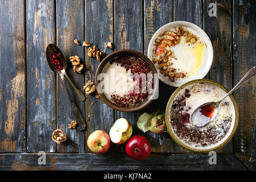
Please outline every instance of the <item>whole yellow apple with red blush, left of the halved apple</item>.
[[103, 154], [110, 148], [109, 135], [102, 130], [96, 130], [87, 139], [87, 145], [91, 151]]

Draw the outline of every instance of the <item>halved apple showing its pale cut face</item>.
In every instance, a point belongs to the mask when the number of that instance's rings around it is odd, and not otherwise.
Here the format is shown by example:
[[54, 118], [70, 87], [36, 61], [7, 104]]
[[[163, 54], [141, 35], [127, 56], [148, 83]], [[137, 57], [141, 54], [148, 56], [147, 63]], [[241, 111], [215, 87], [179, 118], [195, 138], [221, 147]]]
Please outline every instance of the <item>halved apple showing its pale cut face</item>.
[[131, 137], [132, 133], [133, 127], [131, 123], [125, 118], [119, 118], [111, 127], [109, 136], [113, 143], [123, 144]]

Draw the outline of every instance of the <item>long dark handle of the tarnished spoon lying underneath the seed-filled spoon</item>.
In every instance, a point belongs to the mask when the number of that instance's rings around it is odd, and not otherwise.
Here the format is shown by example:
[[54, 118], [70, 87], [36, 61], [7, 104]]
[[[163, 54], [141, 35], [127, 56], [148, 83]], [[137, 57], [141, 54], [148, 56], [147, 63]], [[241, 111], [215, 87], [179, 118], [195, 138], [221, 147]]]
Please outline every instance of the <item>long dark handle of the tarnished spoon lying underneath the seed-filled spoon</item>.
[[86, 122], [84, 121], [84, 118], [82, 117], [82, 114], [79, 108], [76, 106], [75, 102], [72, 99], [71, 94], [69, 93], [68, 85], [66, 80], [64, 79], [63, 73], [59, 73], [59, 75], [61, 77], [61, 80], [64, 82], [64, 87], [67, 91], [69, 101], [71, 102], [71, 111], [72, 111], [73, 117], [75, 118], [76, 122], [79, 123], [79, 126], [77, 126], [77, 130], [80, 130], [80, 131], [84, 130], [86, 127]]

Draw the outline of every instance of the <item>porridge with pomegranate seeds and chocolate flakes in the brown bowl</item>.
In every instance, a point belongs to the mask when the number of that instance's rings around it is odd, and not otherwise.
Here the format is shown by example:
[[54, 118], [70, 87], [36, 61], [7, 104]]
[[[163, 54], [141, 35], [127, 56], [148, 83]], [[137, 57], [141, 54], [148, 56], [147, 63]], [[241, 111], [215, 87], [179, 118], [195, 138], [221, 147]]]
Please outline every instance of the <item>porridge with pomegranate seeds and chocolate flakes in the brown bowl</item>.
[[115, 57], [101, 73], [101, 87], [105, 96], [120, 107], [133, 107], [142, 103], [154, 87], [149, 65], [136, 56]]

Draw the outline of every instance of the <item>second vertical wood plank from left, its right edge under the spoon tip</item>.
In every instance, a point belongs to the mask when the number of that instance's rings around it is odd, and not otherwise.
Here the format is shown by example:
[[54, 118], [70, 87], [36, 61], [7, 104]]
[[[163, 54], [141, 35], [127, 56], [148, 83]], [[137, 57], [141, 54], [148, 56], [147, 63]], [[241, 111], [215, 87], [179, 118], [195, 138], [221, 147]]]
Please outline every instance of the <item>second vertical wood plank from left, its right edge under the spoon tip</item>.
[[55, 151], [55, 73], [46, 47], [55, 42], [52, 1], [27, 1], [27, 151]]

